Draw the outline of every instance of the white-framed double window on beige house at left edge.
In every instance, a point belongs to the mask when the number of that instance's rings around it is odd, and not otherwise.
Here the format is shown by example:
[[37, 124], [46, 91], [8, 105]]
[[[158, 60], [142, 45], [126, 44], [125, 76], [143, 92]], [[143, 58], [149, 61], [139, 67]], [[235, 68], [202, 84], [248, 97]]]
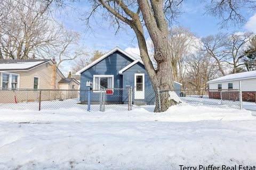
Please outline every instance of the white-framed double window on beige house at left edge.
[[2, 73], [1, 86], [3, 89], [18, 89], [19, 74]]

